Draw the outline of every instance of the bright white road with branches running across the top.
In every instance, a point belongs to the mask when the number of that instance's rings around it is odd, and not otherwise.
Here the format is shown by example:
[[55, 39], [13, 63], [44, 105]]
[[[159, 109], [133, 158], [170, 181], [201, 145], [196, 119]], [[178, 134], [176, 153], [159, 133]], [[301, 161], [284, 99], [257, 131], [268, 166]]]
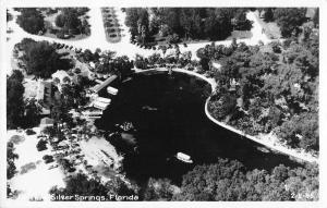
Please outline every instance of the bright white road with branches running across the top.
[[[129, 28], [124, 24], [125, 20], [125, 13], [121, 12], [120, 8], [116, 8], [116, 13], [117, 17], [119, 21], [119, 24], [121, 25], [122, 28], [122, 39], [120, 42], [112, 44], [108, 42], [106, 40], [106, 35], [105, 35], [105, 28], [104, 28], [104, 23], [102, 23], [102, 16], [100, 12], [100, 8], [90, 8], [90, 11], [88, 13], [89, 17], [89, 24], [90, 24], [90, 29], [92, 34], [89, 37], [81, 40], [63, 40], [63, 39], [57, 39], [57, 38], [50, 38], [50, 37], [45, 37], [45, 36], [38, 36], [38, 35], [32, 35], [23, 30], [16, 23], [16, 15], [19, 12], [14, 12], [13, 10], [10, 10], [10, 13], [14, 15], [13, 21], [10, 21], [8, 23], [8, 26], [13, 29], [13, 33], [9, 34], [10, 40], [8, 41], [8, 52], [12, 51], [13, 46], [17, 42], [20, 42], [23, 38], [32, 38], [35, 40], [47, 40], [47, 41], [56, 41], [60, 44], [66, 44], [70, 46], [73, 46], [75, 48], [82, 48], [82, 49], [89, 49], [94, 51], [97, 48], [100, 48], [101, 50], [111, 50], [116, 51], [118, 56], [128, 56], [129, 58], [133, 59], [135, 58], [135, 54], [141, 54], [144, 57], [148, 57], [153, 54], [154, 52], [161, 53], [161, 50], [148, 50], [148, 49], [143, 49], [140, 48], [133, 44], [130, 42], [130, 33]], [[253, 36], [249, 39], [242, 39], [240, 41], [243, 41], [247, 45], [256, 45], [259, 40], [267, 44], [270, 40], [267, 38], [265, 34], [262, 34], [262, 26], [258, 23], [257, 19], [255, 17], [257, 15], [255, 12], [249, 12], [246, 14], [246, 17], [250, 21], [253, 21], [253, 28], [251, 32], [253, 33]], [[196, 50], [206, 46], [207, 44], [210, 44], [210, 41], [205, 41], [205, 42], [197, 42], [197, 44], [189, 44], [187, 48], [183, 47], [180, 45], [180, 51], [191, 51], [192, 52], [192, 58], [197, 59], [196, 57]], [[222, 40], [222, 41], [216, 41], [217, 45], [230, 45], [231, 40]], [[174, 52], [173, 49], [167, 50], [166, 54]], [[162, 53], [161, 53], [162, 54]]]

